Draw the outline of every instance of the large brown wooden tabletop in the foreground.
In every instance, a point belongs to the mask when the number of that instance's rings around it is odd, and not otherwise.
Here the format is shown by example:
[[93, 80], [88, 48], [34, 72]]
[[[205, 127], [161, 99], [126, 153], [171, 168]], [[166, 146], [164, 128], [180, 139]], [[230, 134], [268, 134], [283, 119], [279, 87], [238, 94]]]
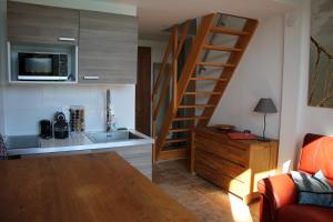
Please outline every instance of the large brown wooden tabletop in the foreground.
[[198, 221], [114, 152], [0, 161], [0, 221]]

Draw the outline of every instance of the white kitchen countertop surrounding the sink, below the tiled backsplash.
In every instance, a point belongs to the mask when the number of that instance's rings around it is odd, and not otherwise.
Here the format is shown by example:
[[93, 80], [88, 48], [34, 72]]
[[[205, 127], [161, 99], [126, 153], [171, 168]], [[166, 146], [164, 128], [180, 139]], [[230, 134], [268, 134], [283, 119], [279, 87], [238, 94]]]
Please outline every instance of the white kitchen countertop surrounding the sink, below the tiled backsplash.
[[142, 139], [120, 140], [104, 143], [93, 143], [85, 133], [70, 133], [67, 139], [39, 139], [40, 145], [37, 148], [24, 148], [24, 149], [8, 149], [9, 155], [29, 155], [29, 154], [42, 154], [42, 153], [56, 153], [56, 152], [73, 152], [84, 150], [98, 150], [98, 149], [110, 149], [120, 147], [132, 147], [132, 145], [147, 145], [152, 144], [153, 139], [144, 135], [135, 130], [130, 132], [141, 137]]

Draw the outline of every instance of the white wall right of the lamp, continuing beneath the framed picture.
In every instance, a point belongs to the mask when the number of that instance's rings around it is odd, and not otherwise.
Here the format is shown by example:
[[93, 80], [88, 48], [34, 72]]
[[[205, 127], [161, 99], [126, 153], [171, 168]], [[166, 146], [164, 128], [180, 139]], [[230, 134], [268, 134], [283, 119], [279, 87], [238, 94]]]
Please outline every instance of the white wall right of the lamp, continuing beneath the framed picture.
[[333, 109], [307, 107], [311, 1], [286, 14], [279, 167], [295, 168], [306, 133], [333, 134]]

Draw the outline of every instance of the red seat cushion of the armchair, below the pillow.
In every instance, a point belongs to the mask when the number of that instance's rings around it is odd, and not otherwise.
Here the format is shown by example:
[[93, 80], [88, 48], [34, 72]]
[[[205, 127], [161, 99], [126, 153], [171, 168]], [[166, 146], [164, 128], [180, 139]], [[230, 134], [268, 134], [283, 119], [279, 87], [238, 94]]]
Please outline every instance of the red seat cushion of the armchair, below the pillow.
[[276, 221], [287, 222], [327, 222], [333, 220], [333, 210], [315, 205], [291, 204], [281, 208]]

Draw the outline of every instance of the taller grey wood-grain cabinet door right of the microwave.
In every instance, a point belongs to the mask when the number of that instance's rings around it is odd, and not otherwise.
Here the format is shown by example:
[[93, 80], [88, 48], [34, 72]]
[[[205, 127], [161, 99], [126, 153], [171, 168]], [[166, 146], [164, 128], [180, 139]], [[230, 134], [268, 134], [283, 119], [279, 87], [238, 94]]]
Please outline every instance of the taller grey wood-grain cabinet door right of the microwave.
[[137, 82], [135, 17], [80, 12], [79, 82]]

